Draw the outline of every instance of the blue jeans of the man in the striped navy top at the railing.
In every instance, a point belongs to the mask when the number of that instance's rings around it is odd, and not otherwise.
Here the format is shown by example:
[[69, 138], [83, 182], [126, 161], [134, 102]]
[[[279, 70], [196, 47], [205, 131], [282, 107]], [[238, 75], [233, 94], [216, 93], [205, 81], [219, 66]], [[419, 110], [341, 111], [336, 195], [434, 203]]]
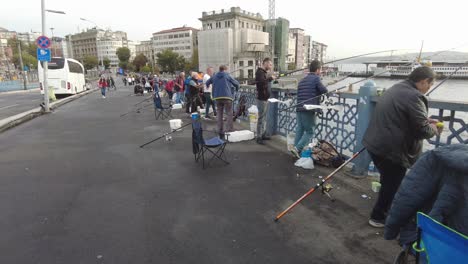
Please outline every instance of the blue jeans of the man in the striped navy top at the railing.
[[314, 130], [316, 124], [315, 112], [296, 112], [296, 138], [294, 139], [294, 146], [298, 151], [310, 143], [310, 140], [314, 137]]

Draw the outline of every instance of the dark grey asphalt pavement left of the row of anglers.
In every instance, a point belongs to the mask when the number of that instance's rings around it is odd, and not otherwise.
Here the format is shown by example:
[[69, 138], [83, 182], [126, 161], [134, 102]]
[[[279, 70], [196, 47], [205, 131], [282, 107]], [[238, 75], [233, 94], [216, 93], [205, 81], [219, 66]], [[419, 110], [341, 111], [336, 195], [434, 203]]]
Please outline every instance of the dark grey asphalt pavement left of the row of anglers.
[[[191, 130], [169, 131], [119, 87], [0, 134], [0, 263], [391, 263], [398, 247], [366, 223], [374, 200], [335, 182], [336, 201], [287, 154], [230, 144], [202, 170]], [[184, 121], [189, 121], [180, 114]], [[207, 123], [208, 128], [213, 123]]]

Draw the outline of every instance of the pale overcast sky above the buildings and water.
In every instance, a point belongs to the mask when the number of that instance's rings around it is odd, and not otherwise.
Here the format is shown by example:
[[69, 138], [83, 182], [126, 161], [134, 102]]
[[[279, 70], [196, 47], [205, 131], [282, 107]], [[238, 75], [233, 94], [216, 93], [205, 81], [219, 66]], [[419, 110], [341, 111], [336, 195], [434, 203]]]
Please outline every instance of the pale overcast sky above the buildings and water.
[[[40, 0], [2, 4], [0, 27], [18, 32], [41, 31]], [[125, 4], [122, 4], [125, 3]], [[149, 40], [153, 32], [188, 25], [201, 28], [203, 11], [239, 6], [268, 17], [268, 0], [108, 1], [46, 0], [46, 8], [67, 15], [47, 14], [47, 31], [55, 36], [76, 33], [93, 24], [123, 30], [131, 40]], [[276, 16], [291, 27], [306, 30], [314, 40], [328, 44], [330, 58], [387, 49], [424, 51], [458, 47], [468, 51], [467, 0], [276, 0]], [[384, 54], [383, 54], [384, 55]]]

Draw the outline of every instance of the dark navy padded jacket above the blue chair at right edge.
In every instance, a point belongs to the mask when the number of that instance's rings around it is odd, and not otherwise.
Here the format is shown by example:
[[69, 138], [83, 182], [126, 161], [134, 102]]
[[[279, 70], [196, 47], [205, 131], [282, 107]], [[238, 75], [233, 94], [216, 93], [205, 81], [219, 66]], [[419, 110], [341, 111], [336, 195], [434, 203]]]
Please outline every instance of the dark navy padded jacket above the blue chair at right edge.
[[[405, 176], [385, 221], [385, 239], [417, 239], [418, 211], [468, 235], [468, 146], [454, 144], [424, 153]], [[423, 231], [424, 232], [424, 231]]]

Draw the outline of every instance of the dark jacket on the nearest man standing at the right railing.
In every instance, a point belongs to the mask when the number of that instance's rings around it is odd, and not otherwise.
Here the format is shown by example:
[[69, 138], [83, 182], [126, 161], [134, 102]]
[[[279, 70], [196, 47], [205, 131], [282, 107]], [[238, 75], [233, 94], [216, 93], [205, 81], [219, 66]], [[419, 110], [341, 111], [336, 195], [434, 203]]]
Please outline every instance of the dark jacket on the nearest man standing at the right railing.
[[395, 84], [379, 98], [362, 143], [377, 156], [411, 167], [421, 154], [423, 139], [435, 135], [427, 107], [427, 98], [414, 83]]

